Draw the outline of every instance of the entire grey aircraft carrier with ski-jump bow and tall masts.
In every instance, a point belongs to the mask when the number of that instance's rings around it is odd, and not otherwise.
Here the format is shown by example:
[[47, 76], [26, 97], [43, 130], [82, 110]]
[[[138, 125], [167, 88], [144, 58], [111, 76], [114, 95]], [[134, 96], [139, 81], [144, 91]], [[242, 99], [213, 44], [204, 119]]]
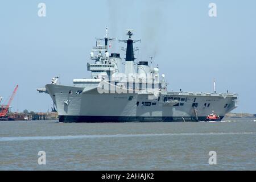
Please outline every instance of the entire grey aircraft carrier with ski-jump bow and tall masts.
[[237, 107], [234, 93], [168, 91], [158, 67], [135, 61], [133, 44], [139, 40], [132, 39], [133, 30], [126, 31], [128, 38], [119, 40], [126, 44], [123, 61], [119, 53], [109, 52], [113, 38], [106, 28], [105, 38], [96, 39], [90, 52], [90, 78], [73, 79], [73, 86], [68, 86], [53, 77], [51, 84], [37, 89], [51, 96], [60, 122], [205, 121], [211, 113], [222, 119]]

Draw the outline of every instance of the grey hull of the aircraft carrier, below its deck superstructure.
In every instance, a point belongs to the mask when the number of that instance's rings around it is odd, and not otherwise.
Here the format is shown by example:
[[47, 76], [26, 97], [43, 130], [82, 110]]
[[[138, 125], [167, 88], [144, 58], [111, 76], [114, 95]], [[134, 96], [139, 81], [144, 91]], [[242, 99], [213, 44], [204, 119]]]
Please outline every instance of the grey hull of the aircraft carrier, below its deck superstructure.
[[[162, 92], [155, 100], [149, 100], [143, 93], [100, 94], [95, 88], [79, 93], [85, 88], [52, 84], [46, 88], [56, 104], [60, 122], [205, 121], [212, 110], [222, 119], [236, 108], [237, 99], [234, 94]], [[166, 97], [179, 101], [172, 106], [164, 101]]]

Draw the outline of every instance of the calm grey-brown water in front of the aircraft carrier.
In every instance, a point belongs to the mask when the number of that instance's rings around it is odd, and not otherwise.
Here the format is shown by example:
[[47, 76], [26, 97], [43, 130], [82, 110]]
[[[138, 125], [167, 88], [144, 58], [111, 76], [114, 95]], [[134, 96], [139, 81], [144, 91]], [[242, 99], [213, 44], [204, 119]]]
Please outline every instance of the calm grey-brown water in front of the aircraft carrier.
[[[0, 122], [1, 170], [256, 170], [256, 118], [223, 122]], [[38, 152], [46, 152], [46, 165]], [[216, 151], [217, 164], [208, 163]]]

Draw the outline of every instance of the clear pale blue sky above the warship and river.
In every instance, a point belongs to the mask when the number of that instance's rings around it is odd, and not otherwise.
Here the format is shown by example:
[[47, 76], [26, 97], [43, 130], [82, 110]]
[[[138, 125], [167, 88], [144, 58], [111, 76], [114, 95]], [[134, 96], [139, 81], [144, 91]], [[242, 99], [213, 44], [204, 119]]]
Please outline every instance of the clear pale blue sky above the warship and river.
[[[46, 17], [38, 3], [46, 3]], [[217, 5], [217, 17], [208, 5]], [[96, 37], [126, 39], [134, 29], [142, 39], [137, 61], [155, 55], [168, 89], [239, 94], [234, 112], [256, 113], [256, 1], [2, 1], [0, 4], [0, 96], [4, 100], [19, 84], [13, 111], [47, 111], [47, 94], [39, 94], [53, 76], [61, 84], [89, 77], [86, 63]], [[112, 43], [122, 53], [125, 44]], [[111, 52], [111, 51], [110, 51]]]

